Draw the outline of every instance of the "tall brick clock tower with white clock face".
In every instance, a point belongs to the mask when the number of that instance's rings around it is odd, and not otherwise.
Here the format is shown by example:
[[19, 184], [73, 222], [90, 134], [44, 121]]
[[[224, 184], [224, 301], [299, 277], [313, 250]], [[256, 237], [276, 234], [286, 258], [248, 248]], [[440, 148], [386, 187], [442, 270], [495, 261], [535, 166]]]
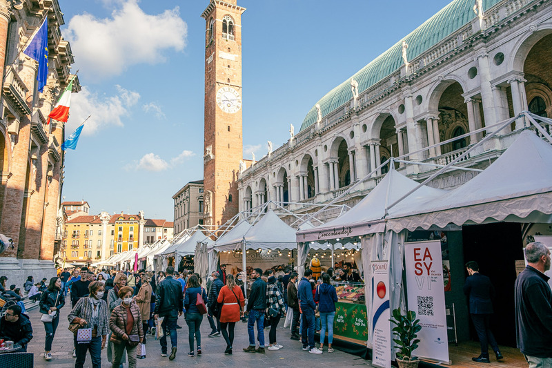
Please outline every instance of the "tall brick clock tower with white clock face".
[[204, 224], [238, 212], [242, 143], [242, 13], [237, 0], [210, 0], [205, 28]]

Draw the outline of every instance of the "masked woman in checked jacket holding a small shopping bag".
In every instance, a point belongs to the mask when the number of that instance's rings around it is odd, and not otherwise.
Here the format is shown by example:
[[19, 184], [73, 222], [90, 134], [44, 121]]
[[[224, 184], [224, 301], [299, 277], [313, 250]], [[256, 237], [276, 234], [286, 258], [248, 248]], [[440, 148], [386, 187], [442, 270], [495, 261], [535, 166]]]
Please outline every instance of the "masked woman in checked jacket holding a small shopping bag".
[[99, 281], [90, 282], [88, 292], [89, 296], [80, 298], [68, 316], [70, 323], [79, 324], [79, 329], [92, 329], [92, 338], [88, 342], [79, 341], [77, 343], [77, 331], [75, 331], [77, 347], [75, 368], [83, 367], [86, 361], [86, 351], [90, 351], [92, 368], [101, 367], [101, 350], [106, 347], [109, 332], [108, 305], [102, 299], [103, 284]]

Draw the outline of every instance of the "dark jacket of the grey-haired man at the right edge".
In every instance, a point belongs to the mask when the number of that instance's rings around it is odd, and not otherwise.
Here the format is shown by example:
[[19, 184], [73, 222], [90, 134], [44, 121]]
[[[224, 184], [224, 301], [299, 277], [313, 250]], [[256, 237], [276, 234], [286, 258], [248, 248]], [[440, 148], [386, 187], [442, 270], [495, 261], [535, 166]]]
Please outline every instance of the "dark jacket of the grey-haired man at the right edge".
[[531, 266], [515, 280], [517, 347], [527, 356], [552, 358], [552, 291], [548, 280]]

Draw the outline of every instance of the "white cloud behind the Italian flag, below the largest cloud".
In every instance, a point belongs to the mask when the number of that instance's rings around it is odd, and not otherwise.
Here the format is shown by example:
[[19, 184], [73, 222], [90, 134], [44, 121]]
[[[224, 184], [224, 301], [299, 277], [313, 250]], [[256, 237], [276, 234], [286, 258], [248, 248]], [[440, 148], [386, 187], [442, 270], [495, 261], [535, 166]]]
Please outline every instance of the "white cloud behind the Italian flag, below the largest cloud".
[[110, 125], [123, 126], [121, 117], [127, 116], [129, 109], [140, 99], [140, 94], [116, 85], [117, 95], [100, 96], [83, 86], [79, 93], [71, 96], [69, 124], [80, 125], [88, 115], [83, 134], [93, 134]]

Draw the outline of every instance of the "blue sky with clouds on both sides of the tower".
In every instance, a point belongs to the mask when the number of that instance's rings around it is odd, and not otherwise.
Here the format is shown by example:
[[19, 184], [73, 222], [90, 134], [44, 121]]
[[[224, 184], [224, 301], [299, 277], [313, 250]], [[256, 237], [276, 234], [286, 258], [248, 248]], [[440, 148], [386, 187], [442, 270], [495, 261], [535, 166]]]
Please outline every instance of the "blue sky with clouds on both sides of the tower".
[[[299, 131], [333, 87], [447, 1], [238, 0], [244, 157]], [[143, 210], [172, 221], [172, 195], [203, 177], [204, 19], [208, 0], [59, 0], [83, 90], [72, 95], [65, 200], [92, 213]]]

